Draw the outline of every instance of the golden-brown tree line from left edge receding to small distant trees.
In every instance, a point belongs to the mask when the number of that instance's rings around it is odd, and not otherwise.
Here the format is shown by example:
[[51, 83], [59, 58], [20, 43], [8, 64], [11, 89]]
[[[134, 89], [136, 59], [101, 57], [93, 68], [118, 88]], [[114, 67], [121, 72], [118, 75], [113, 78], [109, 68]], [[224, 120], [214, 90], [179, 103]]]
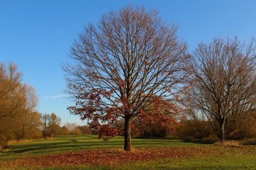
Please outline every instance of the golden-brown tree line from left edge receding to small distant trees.
[[5, 147], [9, 140], [91, 133], [87, 126], [66, 123], [60, 127], [60, 117], [55, 113], [38, 113], [37, 103], [35, 89], [22, 83], [17, 66], [0, 63], [0, 147]]

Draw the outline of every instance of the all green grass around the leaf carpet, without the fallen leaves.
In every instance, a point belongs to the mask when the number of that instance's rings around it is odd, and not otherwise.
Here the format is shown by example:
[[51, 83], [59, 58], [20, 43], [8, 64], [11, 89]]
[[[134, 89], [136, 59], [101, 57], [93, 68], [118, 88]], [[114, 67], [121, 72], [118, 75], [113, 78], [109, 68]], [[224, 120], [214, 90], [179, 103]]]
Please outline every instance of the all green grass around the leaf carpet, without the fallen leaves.
[[[132, 139], [133, 148], [188, 146], [213, 147], [216, 152], [211, 155], [198, 153], [189, 157], [159, 158], [157, 160], [129, 164], [98, 166], [81, 164], [68, 167], [46, 167], [45, 169], [256, 169], [256, 149], [253, 146], [231, 148], [187, 143], [182, 140]], [[99, 148], [123, 148], [123, 137], [114, 137], [104, 142], [101, 139], [97, 139], [96, 135], [60, 135], [54, 139], [12, 143], [10, 148], [0, 154], [0, 165], [1, 161], [23, 157]]]

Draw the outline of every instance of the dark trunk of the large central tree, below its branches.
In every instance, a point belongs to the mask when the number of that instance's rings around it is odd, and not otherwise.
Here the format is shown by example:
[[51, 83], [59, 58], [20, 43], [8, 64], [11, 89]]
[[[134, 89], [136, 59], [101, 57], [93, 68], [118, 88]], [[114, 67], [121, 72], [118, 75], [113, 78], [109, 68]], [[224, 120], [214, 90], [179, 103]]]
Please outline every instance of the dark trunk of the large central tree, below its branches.
[[131, 116], [124, 117], [124, 151], [131, 151]]

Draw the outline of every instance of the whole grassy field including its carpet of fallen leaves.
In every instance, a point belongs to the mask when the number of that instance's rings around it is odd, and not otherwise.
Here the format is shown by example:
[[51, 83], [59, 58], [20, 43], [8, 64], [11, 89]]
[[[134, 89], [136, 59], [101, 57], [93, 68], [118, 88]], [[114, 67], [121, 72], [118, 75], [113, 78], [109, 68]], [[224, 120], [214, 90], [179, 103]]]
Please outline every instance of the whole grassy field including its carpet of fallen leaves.
[[255, 146], [217, 147], [182, 140], [132, 139], [104, 142], [96, 135], [11, 143], [0, 154], [1, 169], [256, 169]]

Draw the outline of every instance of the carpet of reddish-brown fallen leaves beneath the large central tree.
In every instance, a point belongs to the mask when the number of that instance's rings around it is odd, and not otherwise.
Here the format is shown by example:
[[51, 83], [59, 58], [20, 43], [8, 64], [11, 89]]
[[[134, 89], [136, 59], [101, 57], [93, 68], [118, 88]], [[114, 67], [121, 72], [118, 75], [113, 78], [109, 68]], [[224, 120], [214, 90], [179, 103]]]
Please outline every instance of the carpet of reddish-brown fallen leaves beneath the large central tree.
[[178, 158], [207, 151], [209, 151], [209, 148], [202, 147], [136, 148], [132, 152], [124, 152], [121, 149], [95, 149], [58, 153], [48, 156], [27, 157], [15, 161], [0, 162], [0, 164], [12, 167], [52, 167], [84, 163], [95, 165], [117, 164], [167, 157]]

